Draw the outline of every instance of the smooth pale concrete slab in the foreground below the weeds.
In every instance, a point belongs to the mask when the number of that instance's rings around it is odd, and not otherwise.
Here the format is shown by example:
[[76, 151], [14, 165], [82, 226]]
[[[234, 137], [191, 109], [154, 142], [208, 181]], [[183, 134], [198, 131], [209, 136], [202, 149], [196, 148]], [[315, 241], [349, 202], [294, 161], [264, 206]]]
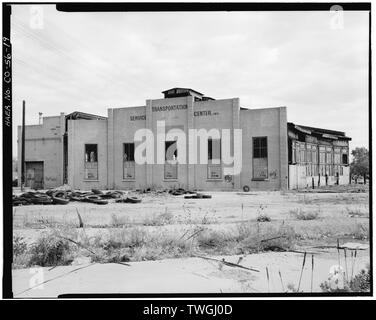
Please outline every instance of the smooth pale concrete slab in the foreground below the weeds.
[[[225, 259], [236, 263], [239, 257]], [[19, 269], [13, 271], [13, 292], [15, 298], [51, 298], [66, 293], [284, 292], [289, 283], [297, 287], [302, 261], [302, 254], [268, 252], [243, 257], [243, 266], [257, 268], [260, 272], [221, 266], [218, 262], [201, 258], [134, 262], [129, 263], [130, 266], [109, 263], [62, 266], [52, 270]], [[353, 273], [356, 274], [368, 262], [369, 252], [364, 252], [357, 258]], [[327, 280], [330, 268], [336, 264], [338, 260], [333, 252], [315, 255], [313, 292], [321, 292], [320, 283]], [[346, 269], [343, 258], [341, 265]], [[350, 274], [352, 264], [349, 259], [347, 269]], [[304, 292], [311, 291], [311, 270], [311, 256], [307, 255], [300, 287]], [[44, 283], [38, 286], [38, 280]]]

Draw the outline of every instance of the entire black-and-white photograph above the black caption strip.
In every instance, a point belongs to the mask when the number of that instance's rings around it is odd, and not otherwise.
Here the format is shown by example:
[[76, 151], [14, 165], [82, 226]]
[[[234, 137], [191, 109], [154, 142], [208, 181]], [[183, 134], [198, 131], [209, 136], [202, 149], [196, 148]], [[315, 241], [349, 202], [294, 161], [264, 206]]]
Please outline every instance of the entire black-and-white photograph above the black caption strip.
[[290, 5], [3, 3], [13, 299], [373, 294], [371, 4]]

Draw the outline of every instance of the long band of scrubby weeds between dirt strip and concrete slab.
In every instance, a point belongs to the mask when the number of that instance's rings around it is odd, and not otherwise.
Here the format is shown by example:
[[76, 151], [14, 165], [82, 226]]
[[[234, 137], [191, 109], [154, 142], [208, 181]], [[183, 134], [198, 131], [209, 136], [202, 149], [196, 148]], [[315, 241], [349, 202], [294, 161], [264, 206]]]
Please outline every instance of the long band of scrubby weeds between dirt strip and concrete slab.
[[[169, 216], [168, 216], [169, 217]], [[165, 216], [158, 222], [165, 221]], [[169, 219], [169, 218], [167, 218]], [[95, 262], [126, 262], [191, 256], [195, 253], [240, 254], [259, 251], [286, 251], [295, 245], [291, 226], [249, 221], [228, 230], [216, 230], [203, 225], [177, 228], [124, 226], [88, 237], [84, 229], [55, 228], [43, 234], [30, 248], [22, 239], [15, 240], [19, 264], [24, 266], [68, 265], [78, 255], [89, 255]]]

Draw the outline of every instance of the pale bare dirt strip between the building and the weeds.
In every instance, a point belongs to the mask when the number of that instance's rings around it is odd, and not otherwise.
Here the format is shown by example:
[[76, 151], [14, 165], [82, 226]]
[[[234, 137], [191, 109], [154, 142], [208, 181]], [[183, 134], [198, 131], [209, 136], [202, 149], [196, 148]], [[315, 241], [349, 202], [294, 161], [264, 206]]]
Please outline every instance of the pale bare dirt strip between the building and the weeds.
[[[96, 205], [71, 202], [68, 205], [33, 205], [13, 208], [15, 229], [43, 228], [46, 224], [77, 225], [77, 211], [87, 227], [111, 227], [112, 217], [142, 224], [147, 218], [172, 213], [181, 223], [202, 219], [217, 223], [236, 223], [256, 219], [265, 213], [272, 220], [289, 220], [291, 211], [318, 211], [323, 219], [346, 219], [349, 212], [368, 213], [368, 193], [281, 193], [281, 192], [210, 192], [212, 199], [184, 199], [168, 194], [141, 195], [142, 203]], [[354, 222], [354, 220], [351, 220]]]

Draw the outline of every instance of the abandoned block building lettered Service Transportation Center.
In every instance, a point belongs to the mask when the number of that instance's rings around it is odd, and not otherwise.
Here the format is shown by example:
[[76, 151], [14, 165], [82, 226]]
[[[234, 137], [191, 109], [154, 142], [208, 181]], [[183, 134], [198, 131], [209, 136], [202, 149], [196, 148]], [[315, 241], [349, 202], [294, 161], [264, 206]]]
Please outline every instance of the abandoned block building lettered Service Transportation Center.
[[[240, 106], [239, 98], [213, 99], [188, 88], [162, 93], [163, 98], [146, 100], [144, 106], [108, 109], [107, 117], [62, 113], [44, 117], [40, 125], [26, 126], [26, 186], [284, 190], [349, 183], [351, 139], [344, 132], [288, 123], [286, 107], [248, 109]], [[135, 136], [144, 131], [156, 137], [159, 123], [164, 124], [165, 161], [139, 163], [135, 155], [144, 142]], [[220, 135], [211, 135], [212, 129]], [[192, 130], [207, 134], [195, 143], [187, 139], [180, 144], [179, 134], [190, 137]], [[230, 155], [240, 144], [240, 172], [226, 173], [223, 130], [229, 130]], [[235, 139], [235, 131], [240, 132], [240, 140]], [[19, 127], [18, 159], [21, 133]], [[204, 149], [200, 149], [202, 143]], [[146, 153], [160, 158], [157, 139], [147, 148]], [[192, 150], [198, 158], [202, 150], [207, 151], [207, 161], [192, 163]], [[176, 161], [182, 154], [187, 161]], [[21, 172], [21, 161], [18, 166]]]

